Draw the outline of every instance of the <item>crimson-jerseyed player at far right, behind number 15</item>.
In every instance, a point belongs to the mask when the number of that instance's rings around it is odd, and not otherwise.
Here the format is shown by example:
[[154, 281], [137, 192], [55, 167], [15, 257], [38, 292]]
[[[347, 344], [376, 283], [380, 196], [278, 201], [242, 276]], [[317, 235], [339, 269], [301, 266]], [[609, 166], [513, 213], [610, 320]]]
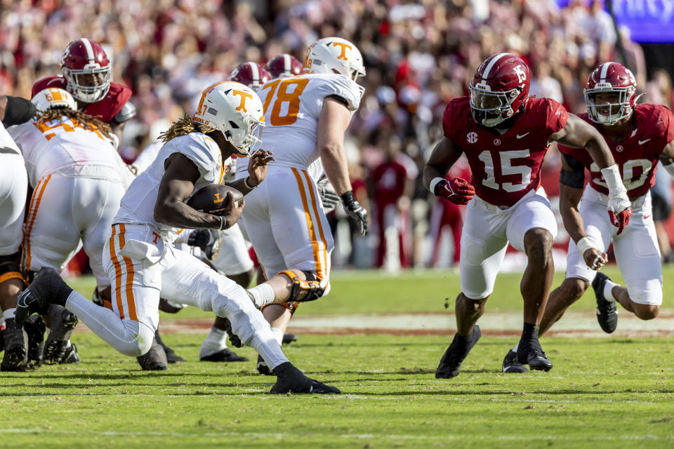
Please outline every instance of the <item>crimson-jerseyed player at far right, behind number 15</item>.
[[[588, 113], [580, 116], [602, 133], [611, 148], [633, 215], [625, 229], [612, 227], [602, 213], [610, 198], [608, 180], [584, 149], [560, 146], [560, 212], [571, 241], [567, 277], [550, 293], [540, 333], [558, 321], [590, 283], [604, 332], [616, 330], [616, 302], [642, 320], [654, 319], [660, 311], [662, 267], [649, 189], [658, 161], [674, 177], [674, 116], [665, 106], [637, 105], [636, 100], [637, 83], [623, 65], [604, 62], [590, 74], [585, 88]], [[583, 191], [586, 169], [591, 177]], [[607, 262], [611, 242], [626, 287], [597, 272]], [[503, 371], [526, 372], [512, 352], [503, 361]]]

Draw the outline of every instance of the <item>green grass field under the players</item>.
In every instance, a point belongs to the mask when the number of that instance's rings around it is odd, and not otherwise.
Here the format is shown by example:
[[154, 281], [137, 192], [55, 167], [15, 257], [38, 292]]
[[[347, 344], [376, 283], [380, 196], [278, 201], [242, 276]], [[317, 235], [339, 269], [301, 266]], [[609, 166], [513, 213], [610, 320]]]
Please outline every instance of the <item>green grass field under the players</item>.
[[[499, 276], [487, 314], [520, 311], [519, 281]], [[74, 285], [93, 289], [88, 278]], [[331, 295], [298, 316], [442, 313], [457, 292], [449, 272], [336, 273]], [[593, 304], [590, 292], [577, 308]], [[188, 308], [162, 320], [208, 317]], [[267, 394], [273, 379], [252, 361], [199, 362], [203, 337], [164, 335], [186, 363], [163, 373], [141, 371], [91, 333], [74, 336], [77, 366], [1, 373], [0, 448], [674, 447], [672, 335], [544, 337], [555, 368], [528, 375], [501, 373], [513, 337], [487, 336], [452, 380], [434, 377], [447, 336], [299, 335], [285, 347], [291, 361], [343, 394], [281, 397]]]

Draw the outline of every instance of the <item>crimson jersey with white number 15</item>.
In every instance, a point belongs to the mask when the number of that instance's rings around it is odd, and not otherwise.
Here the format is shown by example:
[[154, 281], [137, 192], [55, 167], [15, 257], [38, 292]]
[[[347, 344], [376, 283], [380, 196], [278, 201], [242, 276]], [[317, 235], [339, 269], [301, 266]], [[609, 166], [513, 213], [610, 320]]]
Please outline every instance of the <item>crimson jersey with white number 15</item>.
[[465, 153], [475, 194], [494, 206], [513, 206], [541, 185], [550, 135], [564, 128], [569, 113], [555, 100], [530, 97], [513, 127], [499, 135], [475, 123], [468, 101], [449, 102], [442, 118], [444, 135]]

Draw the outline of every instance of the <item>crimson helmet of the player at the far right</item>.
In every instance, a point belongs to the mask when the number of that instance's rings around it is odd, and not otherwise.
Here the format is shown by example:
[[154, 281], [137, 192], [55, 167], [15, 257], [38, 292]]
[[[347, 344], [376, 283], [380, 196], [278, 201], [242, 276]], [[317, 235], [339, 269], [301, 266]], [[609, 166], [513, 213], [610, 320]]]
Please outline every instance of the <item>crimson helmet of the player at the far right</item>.
[[[590, 120], [611, 126], [632, 114], [637, 102], [637, 81], [630, 69], [624, 65], [618, 62], [604, 62], [590, 74], [583, 93]], [[595, 102], [597, 93], [614, 93], [618, 102], [597, 104]]]

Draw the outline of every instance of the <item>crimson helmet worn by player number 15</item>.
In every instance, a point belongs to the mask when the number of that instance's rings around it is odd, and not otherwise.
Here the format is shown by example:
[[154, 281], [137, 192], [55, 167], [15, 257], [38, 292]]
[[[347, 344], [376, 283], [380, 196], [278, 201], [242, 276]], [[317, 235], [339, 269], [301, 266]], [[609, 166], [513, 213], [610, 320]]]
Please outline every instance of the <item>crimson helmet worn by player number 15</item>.
[[470, 111], [475, 122], [496, 126], [527, 104], [531, 73], [527, 63], [511, 53], [496, 53], [477, 67], [470, 81]]

